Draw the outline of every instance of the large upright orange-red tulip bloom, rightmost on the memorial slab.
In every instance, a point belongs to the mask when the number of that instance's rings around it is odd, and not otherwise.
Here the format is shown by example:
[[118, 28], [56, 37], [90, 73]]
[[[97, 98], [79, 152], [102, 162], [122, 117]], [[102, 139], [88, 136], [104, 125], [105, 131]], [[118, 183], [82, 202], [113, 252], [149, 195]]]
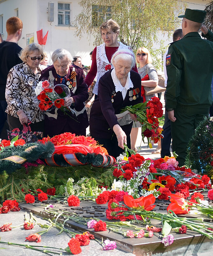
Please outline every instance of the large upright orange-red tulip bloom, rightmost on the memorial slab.
[[181, 196], [178, 196], [176, 194], [170, 195], [170, 205], [167, 207], [167, 212], [172, 210], [175, 214], [187, 214], [188, 208], [187, 208], [187, 202], [182, 198]]

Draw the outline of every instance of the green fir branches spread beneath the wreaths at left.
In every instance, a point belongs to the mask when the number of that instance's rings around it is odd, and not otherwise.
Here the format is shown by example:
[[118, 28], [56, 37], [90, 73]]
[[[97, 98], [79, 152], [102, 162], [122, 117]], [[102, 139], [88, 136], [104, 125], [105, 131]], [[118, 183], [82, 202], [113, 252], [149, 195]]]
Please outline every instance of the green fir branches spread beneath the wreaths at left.
[[[90, 180], [92, 183], [97, 182], [103, 186], [110, 186], [110, 182], [114, 180], [111, 168], [98, 168], [91, 165], [78, 167], [39, 165], [28, 167], [27, 171], [26, 174], [25, 167], [22, 167], [12, 174], [7, 174], [5, 171], [0, 174], [0, 201], [4, 201], [5, 198], [16, 199], [18, 202], [24, 201], [28, 190], [35, 191], [38, 188], [46, 192], [47, 188], [55, 187], [56, 194], [62, 195], [65, 192], [64, 186], [70, 177], [75, 182], [82, 177], [94, 178], [95, 180]], [[105, 172], [106, 175], [104, 175]]]

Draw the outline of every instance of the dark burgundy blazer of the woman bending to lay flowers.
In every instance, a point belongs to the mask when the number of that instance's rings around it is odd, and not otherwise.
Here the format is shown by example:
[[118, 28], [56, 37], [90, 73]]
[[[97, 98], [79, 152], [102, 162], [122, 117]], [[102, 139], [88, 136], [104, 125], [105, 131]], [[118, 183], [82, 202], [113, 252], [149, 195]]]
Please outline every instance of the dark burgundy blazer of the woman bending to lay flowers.
[[[141, 99], [141, 78], [138, 73], [133, 70], [130, 71], [130, 79], [133, 83], [133, 88], [127, 90], [126, 97], [123, 100], [122, 93], [120, 91], [115, 92], [115, 85], [112, 81], [111, 71], [112, 70], [106, 72], [99, 80], [98, 96], [92, 105], [89, 116], [91, 135], [105, 139], [110, 139], [112, 137], [114, 133], [113, 126], [119, 124], [116, 114], [119, 114], [122, 108], [143, 102]], [[129, 92], [137, 88], [139, 90], [136, 95], [137, 98], [130, 101]], [[132, 122], [128, 125], [121, 126], [121, 128], [125, 132], [126, 136], [130, 136]]]

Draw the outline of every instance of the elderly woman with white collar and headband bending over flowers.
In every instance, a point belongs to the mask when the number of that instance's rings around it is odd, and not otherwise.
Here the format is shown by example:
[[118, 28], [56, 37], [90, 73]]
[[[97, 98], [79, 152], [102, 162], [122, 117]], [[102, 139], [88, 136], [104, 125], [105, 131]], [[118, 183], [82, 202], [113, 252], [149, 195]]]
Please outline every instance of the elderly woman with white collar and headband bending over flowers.
[[94, 101], [89, 119], [90, 134], [107, 149], [109, 155], [119, 156], [124, 143], [130, 148], [132, 120], [127, 113], [119, 115], [121, 109], [142, 102], [141, 78], [131, 70], [135, 56], [129, 49], [117, 50], [112, 56], [114, 68], [99, 80], [98, 96]]

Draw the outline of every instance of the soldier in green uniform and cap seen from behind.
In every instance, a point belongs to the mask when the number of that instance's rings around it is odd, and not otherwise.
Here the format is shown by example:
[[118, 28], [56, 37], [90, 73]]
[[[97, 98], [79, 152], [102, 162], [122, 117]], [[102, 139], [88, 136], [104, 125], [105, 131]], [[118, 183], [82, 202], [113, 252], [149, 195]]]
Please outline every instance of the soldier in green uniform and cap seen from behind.
[[[183, 18], [184, 37], [171, 43], [166, 57], [166, 110], [179, 166], [184, 165], [188, 141], [212, 104], [213, 42], [198, 34], [205, 15], [205, 11], [186, 9], [178, 16]], [[211, 31], [205, 34], [213, 39]]]

